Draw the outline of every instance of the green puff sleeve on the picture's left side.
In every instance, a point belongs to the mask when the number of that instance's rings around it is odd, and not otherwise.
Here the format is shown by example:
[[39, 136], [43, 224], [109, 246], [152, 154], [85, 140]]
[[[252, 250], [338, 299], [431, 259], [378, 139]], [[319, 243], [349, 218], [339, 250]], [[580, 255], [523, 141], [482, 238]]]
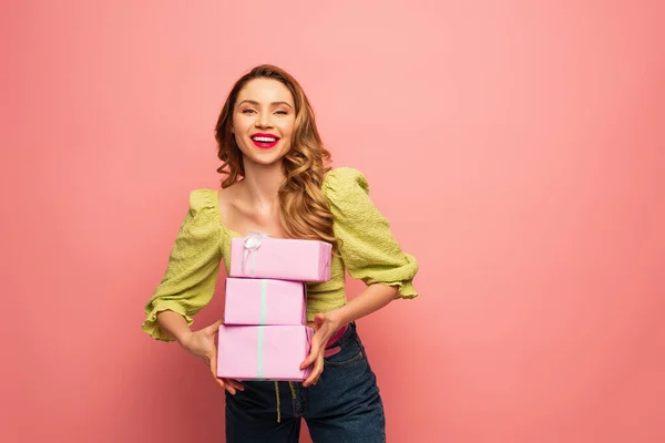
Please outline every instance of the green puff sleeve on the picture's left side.
[[164, 277], [144, 307], [147, 317], [142, 329], [156, 340], [174, 340], [157, 324], [157, 312], [172, 310], [192, 324], [192, 316], [213, 297], [222, 260], [222, 226], [215, 198], [211, 189], [190, 194], [190, 210], [171, 250]]

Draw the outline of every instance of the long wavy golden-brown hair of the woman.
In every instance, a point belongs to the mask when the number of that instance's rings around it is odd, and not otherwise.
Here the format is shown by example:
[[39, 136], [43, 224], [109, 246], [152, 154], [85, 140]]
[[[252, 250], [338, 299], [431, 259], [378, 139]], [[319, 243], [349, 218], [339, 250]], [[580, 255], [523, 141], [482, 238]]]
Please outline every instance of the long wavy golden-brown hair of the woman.
[[[226, 175], [222, 188], [245, 176], [243, 154], [232, 133], [233, 111], [241, 90], [254, 79], [273, 79], [282, 82], [291, 93], [296, 105], [296, 120], [291, 137], [291, 148], [283, 157], [285, 181], [279, 187], [279, 219], [289, 238], [323, 240], [338, 249], [338, 240], [332, 231], [332, 213], [321, 186], [325, 174], [330, 171], [330, 153], [324, 147], [316, 127], [314, 110], [300, 84], [283, 69], [262, 64], [243, 75], [228, 93], [222, 107], [215, 138], [217, 156], [222, 166], [217, 172]], [[325, 163], [324, 163], [325, 162]]]

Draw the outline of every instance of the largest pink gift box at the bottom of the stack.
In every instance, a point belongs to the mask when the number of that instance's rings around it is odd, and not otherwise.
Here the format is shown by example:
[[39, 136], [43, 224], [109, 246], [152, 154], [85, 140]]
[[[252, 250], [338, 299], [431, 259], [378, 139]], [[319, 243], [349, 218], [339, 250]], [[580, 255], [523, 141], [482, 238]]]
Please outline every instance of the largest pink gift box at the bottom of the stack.
[[217, 377], [235, 380], [304, 381], [300, 370], [314, 330], [306, 326], [219, 327]]

